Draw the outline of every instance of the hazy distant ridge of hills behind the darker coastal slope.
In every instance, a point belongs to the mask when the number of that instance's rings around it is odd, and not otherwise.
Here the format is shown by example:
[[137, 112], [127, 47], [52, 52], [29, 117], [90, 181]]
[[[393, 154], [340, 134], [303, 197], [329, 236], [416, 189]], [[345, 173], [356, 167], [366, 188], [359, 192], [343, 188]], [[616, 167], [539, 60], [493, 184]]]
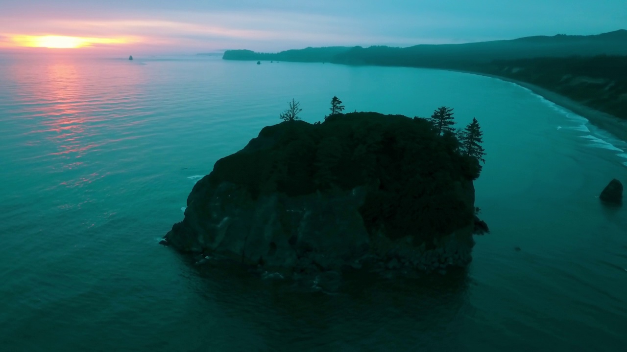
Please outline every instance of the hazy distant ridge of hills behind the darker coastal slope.
[[627, 30], [620, 29], [591, 36], [557, 34], [466, 44], [419, 44], [408, 48], [333, 46], [287, 50], [280, 53], [228, 50], [224, 53], [224, 59], [442, 67], [460, 63], [464, 65], [486, 63], [492, 60], [596, 54], [627, 55]]

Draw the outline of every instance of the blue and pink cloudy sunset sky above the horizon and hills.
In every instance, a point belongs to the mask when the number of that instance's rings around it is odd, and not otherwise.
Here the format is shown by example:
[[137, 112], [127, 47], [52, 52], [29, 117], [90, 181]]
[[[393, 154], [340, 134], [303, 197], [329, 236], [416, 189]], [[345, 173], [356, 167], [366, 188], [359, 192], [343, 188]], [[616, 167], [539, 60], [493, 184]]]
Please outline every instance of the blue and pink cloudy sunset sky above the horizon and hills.
[[623, 28], [626, 0], [0, 0], [0, 51], [275, 52]]

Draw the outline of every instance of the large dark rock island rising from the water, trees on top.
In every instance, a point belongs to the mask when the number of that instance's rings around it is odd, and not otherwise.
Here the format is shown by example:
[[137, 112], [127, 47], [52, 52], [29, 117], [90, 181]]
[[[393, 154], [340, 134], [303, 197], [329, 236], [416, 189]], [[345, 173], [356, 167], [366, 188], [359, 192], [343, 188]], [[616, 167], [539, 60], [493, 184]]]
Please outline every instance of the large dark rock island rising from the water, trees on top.
[[294, 273], [465, 266], [485, 229], [480, 168], [453, 133], [422, 118], [282, 122], [216, 162], [164, 243]]

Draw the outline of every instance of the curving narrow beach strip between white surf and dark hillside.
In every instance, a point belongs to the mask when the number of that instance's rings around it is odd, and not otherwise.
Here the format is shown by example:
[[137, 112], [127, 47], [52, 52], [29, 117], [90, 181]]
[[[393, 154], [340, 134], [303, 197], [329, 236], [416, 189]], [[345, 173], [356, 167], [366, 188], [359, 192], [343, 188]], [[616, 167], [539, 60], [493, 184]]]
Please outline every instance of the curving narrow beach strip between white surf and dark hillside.
[[602, 130], [610, 133], [614, 137], [627, 142], [627, 121], [621, 120], [620, 118], [609, 115], [608, 113], [604, 113], [603, 111], [594, 110], [593, 108], [589, 108], [588, 106], [583, 105], [577, 101], [572, 100], [571, 98], [567, 98], [566, 96], [560, 95], [559, 93], [555, 93], [554, 91], [547, 90], [546, 88], [542, 88], [540, 86], [534, 85], [532, 83], [527, 83], [524, 81], [514, 80], [512, 78], [507, 78], [503, 76], [490, 75], [488, 73], [480, 73], [474, 71], [461, 71], [461, 70], [446, 70], [446, 71], [455, 71], [461, 73], [470, 73], [472, 75], [486, 76], [490, 78], [496, 78], [497, 80], [507, 81], [511, 83], [515, 83], [516, 85], [522, 86], [523, 88], [527, 88], [528, 90], [534, 92], [535, 94], [542, 96], [546, 100], [551, 101], [562, 108], [566, 108], [577, 115], [580, 115], [586, 118], [592, 125], [601, 128]]

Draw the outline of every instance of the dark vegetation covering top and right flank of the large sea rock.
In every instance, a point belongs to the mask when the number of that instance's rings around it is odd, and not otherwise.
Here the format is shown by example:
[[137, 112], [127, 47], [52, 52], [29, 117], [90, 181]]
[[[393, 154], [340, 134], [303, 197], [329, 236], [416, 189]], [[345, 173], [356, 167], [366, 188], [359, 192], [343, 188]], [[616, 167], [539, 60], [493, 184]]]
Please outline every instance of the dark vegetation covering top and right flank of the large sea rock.
[[[297, 106], [292, 100], [290, 109]], [[419, 232], [427, 241], [472, 223], [475, 208], [464, 192], [479, 176], [480, 154], [465, 152], [454, 133], [440, 134], [423, 118], [374, 112], [335, 113], [319, 124], [284, 120], [218, 160], [194, 189], [226, 181], [257, 199], [365, 186], [362, 219], [367, 229], [385, 229], [389, 237]], [[472, 138], [477, 148], [480, 136]]]

